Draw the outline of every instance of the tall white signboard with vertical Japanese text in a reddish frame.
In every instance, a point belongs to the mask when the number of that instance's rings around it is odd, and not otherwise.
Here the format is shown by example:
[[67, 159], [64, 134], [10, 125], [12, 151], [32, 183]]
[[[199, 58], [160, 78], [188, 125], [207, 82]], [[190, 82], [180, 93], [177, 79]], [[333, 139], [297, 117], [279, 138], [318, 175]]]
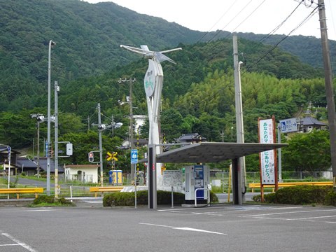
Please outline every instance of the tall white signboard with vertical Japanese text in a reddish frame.
[[[272, 119], [259, 120], [260, 144], [275, 144], [273, 129]], [[275, 162], [273, 150], [260, 153], [262, 185], [275, 184]]]

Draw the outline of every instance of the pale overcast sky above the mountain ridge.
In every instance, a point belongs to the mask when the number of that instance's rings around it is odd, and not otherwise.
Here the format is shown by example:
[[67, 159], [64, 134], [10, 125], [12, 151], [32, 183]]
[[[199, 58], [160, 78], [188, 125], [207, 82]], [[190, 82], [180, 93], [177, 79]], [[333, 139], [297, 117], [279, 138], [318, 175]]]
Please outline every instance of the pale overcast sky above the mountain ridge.
[[[111, 0], [84, 0], [98, 3]], [[183, 27], [197, 31], [253, 32], [269, 34], [299, 5], [298, 0], [113, 0], [120, 6], [137, 13], [163, 18]], [[310, 3], [310, 0], [305, 0]], [[316, 7], [317, 0], [310, 8], [300, 4], [274, 34], [289, 34], [308, 17]], [[312, 8], [314, 7], [314, 8]], [[325, 0], [328, 38], [336, 40], [336, 1]], [[321, 38], [318, 10], [291, 35], [316, 36]]]

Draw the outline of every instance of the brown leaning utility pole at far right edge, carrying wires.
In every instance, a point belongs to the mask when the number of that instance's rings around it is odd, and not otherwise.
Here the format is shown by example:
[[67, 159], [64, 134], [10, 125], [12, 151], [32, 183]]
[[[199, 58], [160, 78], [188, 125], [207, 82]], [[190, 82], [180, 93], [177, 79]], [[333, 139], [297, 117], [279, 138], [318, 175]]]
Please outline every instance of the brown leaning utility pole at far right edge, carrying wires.
[[329, 41], [327, 32], [327, 22], [325, 18], [324, 0], [318, 0], [318, 15], [320, 18], [320, 29], [321, 29], [325, 94], [327, 97], [327, 106], [328, 106], [332, 180], [334, 182], [334, 192], [336, 192], [336, 113], [335, 113], [334, 90], [332, 89], [332, 71], [330, 64]]

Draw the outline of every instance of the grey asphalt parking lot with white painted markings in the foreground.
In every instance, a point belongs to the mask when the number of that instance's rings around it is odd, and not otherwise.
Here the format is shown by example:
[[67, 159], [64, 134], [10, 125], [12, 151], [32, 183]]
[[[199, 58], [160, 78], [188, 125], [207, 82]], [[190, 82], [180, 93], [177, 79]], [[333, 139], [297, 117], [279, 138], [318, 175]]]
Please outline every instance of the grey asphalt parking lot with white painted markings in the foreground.
[[335, 207], [2, 207], [0, 251], [335, 251]]

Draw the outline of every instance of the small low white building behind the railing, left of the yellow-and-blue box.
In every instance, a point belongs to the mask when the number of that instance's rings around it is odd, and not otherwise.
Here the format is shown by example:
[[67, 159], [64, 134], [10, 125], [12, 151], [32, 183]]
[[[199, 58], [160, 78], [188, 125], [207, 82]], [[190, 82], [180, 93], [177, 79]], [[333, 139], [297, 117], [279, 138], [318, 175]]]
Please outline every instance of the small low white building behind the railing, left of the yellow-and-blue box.
[[98, 183], [98, 168], [99, 165], [67, 165], [64, 178], [68, 181]]

